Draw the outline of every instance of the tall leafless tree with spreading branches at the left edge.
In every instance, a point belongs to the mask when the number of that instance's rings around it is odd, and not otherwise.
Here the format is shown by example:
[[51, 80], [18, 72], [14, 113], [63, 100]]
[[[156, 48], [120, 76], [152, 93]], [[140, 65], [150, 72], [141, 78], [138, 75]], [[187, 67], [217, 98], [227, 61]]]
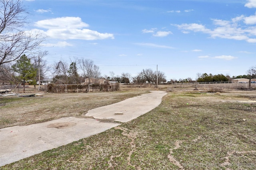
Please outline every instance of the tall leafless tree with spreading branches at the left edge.
[[22, 0], [0, 0], [0, 66], [17, 61], [24, 53], [28, 58], [42, 53], [45, 37], [38, 32], [19, 30], [27, 14]]

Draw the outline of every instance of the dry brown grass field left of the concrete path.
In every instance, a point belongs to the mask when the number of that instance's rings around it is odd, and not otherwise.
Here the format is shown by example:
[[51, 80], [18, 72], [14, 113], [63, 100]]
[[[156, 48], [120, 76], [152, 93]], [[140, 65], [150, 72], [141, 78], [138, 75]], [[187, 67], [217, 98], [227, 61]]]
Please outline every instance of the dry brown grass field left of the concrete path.
[[148, 93], [148, 90], [120, 90], [116, 92], [92, 93], [40, 93], [42, 95], [26, 98], [0, 96], [0, 128], [28, 125], [61, 117], [84, 117], [84, 114], [90, 109], [120, 102], [144, 93]]

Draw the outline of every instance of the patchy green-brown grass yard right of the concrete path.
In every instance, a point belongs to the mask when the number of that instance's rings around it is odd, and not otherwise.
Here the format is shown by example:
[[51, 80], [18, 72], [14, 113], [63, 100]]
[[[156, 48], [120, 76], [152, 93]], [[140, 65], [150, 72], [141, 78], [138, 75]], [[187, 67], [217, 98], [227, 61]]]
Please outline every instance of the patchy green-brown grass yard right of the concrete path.
[[[133, 121], [0, 169], [255, 170], [256, 104], [238, 102], [247, 100], [256, 91], [168, 92]], [[1, 125], [17, 124], [9, 119]]]

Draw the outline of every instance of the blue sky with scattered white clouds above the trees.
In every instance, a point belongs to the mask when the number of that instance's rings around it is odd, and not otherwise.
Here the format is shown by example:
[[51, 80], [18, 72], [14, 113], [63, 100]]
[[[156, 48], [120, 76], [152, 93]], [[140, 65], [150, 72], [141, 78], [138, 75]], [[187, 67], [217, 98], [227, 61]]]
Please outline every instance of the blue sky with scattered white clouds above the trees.
[[28, 0], [26, 30], [47, 36], [49, 64], [91, 59], [102, 76], [238, 76], [256, 65], [256, 0]]

